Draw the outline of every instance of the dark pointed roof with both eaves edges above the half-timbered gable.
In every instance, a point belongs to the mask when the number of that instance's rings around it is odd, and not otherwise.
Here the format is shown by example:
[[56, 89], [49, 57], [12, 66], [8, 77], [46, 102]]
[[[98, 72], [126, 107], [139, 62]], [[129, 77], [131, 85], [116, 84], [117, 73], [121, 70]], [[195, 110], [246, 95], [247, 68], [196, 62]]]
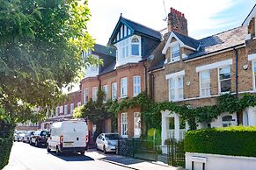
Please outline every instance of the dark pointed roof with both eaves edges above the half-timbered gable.
[[119, 32], [121, 25], [127, 25], [128, 28], [131, 29], [132, 34], [134, 34], [135, 32], [138, 34], [142, 34], [145, 36], [148, 36], [152, 39], [162, 39], [162, 35], [160, 32], [145, 26], [145, 25], [141, 25], [135, 21], [132, 21], [128, 18], [123, 18], [122, 16], [119, 18], [117, 24], [115, 25], [115, 28], [112, 32], [111, 37], [109, 38], [108, 44], [113, 44], [113, 39], [115, 38], [115, 36], [117, 35], [117, 33]]

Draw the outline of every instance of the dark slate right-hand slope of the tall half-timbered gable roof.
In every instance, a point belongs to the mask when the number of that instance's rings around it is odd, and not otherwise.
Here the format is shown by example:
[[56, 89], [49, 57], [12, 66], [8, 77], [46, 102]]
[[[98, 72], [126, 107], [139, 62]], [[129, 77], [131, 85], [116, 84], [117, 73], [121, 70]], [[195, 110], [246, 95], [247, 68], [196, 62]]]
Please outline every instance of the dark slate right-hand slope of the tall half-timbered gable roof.
[[121, 19], [128, 24], [135, 32], [140, 32], [146, 35], [149, 35], [150, 37], [154, 37], [157, 39], [162, 39], [162, 35], [160, 32], [153, 30], [145, 25], [141, 25], [139, 23], [136, 23], [135, 21], [132, 21], [128, 18], [123, 18], [121, 17]]

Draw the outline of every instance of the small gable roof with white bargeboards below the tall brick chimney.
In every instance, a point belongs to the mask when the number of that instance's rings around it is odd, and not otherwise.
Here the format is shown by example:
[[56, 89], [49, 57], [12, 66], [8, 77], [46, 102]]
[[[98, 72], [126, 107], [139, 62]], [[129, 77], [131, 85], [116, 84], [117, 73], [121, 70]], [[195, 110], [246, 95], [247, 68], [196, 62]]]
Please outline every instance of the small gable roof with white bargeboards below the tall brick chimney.
[[186, 35], [183, 35], [183, 34], [181, 34], [179, 32], [172, 31], [170, 33], [166, 43], [165, 43], [165, 47], [164, 47], [162, 53], [166, 53], [167, 52], [167, 49], [170, 46], [172, 38], [176, 39], [179, 42], [179, 45], [181, 47], [187, 47], [187, 48], [192, 49], [194, 51], [196, 51], [196, 49], [200, 45], [200, 41], [199, 40], [193, 39], [193, 38], [188, 37]]

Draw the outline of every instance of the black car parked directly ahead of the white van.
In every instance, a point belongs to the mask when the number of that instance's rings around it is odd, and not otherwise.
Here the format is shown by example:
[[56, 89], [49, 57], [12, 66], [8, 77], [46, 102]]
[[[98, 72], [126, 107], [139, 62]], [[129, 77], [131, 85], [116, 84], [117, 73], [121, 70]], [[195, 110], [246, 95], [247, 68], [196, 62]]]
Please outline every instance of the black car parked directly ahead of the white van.
[[36, 147], [47, 145], [49, 133], [50, 131], [47, 130], [35, 131], [31, 137], [30, 145], [35, 145]]

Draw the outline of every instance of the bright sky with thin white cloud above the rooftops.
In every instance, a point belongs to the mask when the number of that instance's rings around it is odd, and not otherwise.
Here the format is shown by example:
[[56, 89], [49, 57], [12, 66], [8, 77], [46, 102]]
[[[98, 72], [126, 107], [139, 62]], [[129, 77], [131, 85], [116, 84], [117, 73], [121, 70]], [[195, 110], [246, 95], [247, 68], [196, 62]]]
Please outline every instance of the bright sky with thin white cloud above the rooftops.
[[[246, 2], [246, 3], [245, 3]], [[243, 23], [256, 0], [89, 0], [88, 31], [96, 42], [106, 45], [120, 14], [153, 29], [165, 28], [165, 9], [185, 13], [188, 34], [194, 39], [223, 32]]]

